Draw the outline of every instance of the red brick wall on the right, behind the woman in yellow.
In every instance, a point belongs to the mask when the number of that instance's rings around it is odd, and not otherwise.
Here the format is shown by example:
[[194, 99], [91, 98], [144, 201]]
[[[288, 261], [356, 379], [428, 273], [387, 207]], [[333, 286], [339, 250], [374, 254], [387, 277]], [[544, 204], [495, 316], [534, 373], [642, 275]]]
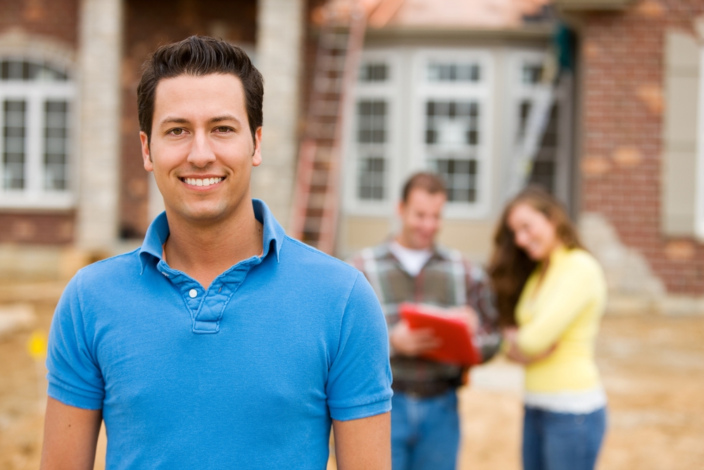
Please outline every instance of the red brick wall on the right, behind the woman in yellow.
[[693, 33], [701, 0], [641, 0], [584, 16], [582, 210], [603, 214], [668, 292], [704, 292], [704, 245], [660, 230], [664, 41]]

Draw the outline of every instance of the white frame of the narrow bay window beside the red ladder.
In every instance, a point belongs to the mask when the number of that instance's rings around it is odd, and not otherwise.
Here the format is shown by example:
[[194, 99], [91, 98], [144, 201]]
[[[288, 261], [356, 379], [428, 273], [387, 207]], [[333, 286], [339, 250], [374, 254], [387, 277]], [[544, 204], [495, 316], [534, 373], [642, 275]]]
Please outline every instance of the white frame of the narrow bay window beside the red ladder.
[[[384, 62], [388, 78], [384, 82], [360, 82], [356, 80], [353, 99], [350, 100], [346, 116], [351, 116], [346, 125], [344, 149], [348, 158], [344, 164], [343, 193], [346, 214], [351, 216], [389, 216], [398, 199], [396, 187], [398, 176], [401, 115], [399, 113], [399, 88], [401, 87], [401, 56], [397, 49], [370, 49], [362, 53], [360, 67], [368, 62]], [[365, 99], [386, 101], [386, 149], [384, 151], [384, 199], [360, 199], [357, 193], [360, 155], [357, 147], [357, 104]]]

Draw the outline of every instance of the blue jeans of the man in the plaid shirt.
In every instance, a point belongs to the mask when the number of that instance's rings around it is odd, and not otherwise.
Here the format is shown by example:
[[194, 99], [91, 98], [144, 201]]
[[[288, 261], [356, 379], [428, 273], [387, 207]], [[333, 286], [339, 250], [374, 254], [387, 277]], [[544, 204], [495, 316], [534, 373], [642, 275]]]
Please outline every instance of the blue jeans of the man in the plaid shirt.
[[429, 398], [394, 392], [391, 399], [391, 468], [455, 470], [460, 445], [457, 394]]

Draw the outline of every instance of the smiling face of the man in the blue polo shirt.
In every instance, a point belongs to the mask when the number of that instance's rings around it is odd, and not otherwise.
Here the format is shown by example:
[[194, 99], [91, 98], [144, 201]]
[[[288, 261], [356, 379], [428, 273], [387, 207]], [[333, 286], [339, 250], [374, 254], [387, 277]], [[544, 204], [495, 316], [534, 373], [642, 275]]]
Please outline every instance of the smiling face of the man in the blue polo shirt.
[[169, 216], [220, 221], [249, 204], [252, 166], [261, 163], [261, 128], [253, 140], [244, 89], [235, 75], [161, 80], [151, 143], [140, 132], [146, 171], [153, 171]]

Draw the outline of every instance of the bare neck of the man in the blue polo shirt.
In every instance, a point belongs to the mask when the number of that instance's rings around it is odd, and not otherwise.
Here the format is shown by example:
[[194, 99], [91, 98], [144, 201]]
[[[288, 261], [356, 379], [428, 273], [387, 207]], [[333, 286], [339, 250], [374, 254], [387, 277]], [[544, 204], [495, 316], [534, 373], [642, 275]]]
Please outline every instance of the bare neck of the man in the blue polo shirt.
[[207, 287], [222, 272], [263, 251], [263, 227], [246, 198], [220, 221], [194, 222], [166, 208], [170, 235], [164, 245], [169, 266]]

